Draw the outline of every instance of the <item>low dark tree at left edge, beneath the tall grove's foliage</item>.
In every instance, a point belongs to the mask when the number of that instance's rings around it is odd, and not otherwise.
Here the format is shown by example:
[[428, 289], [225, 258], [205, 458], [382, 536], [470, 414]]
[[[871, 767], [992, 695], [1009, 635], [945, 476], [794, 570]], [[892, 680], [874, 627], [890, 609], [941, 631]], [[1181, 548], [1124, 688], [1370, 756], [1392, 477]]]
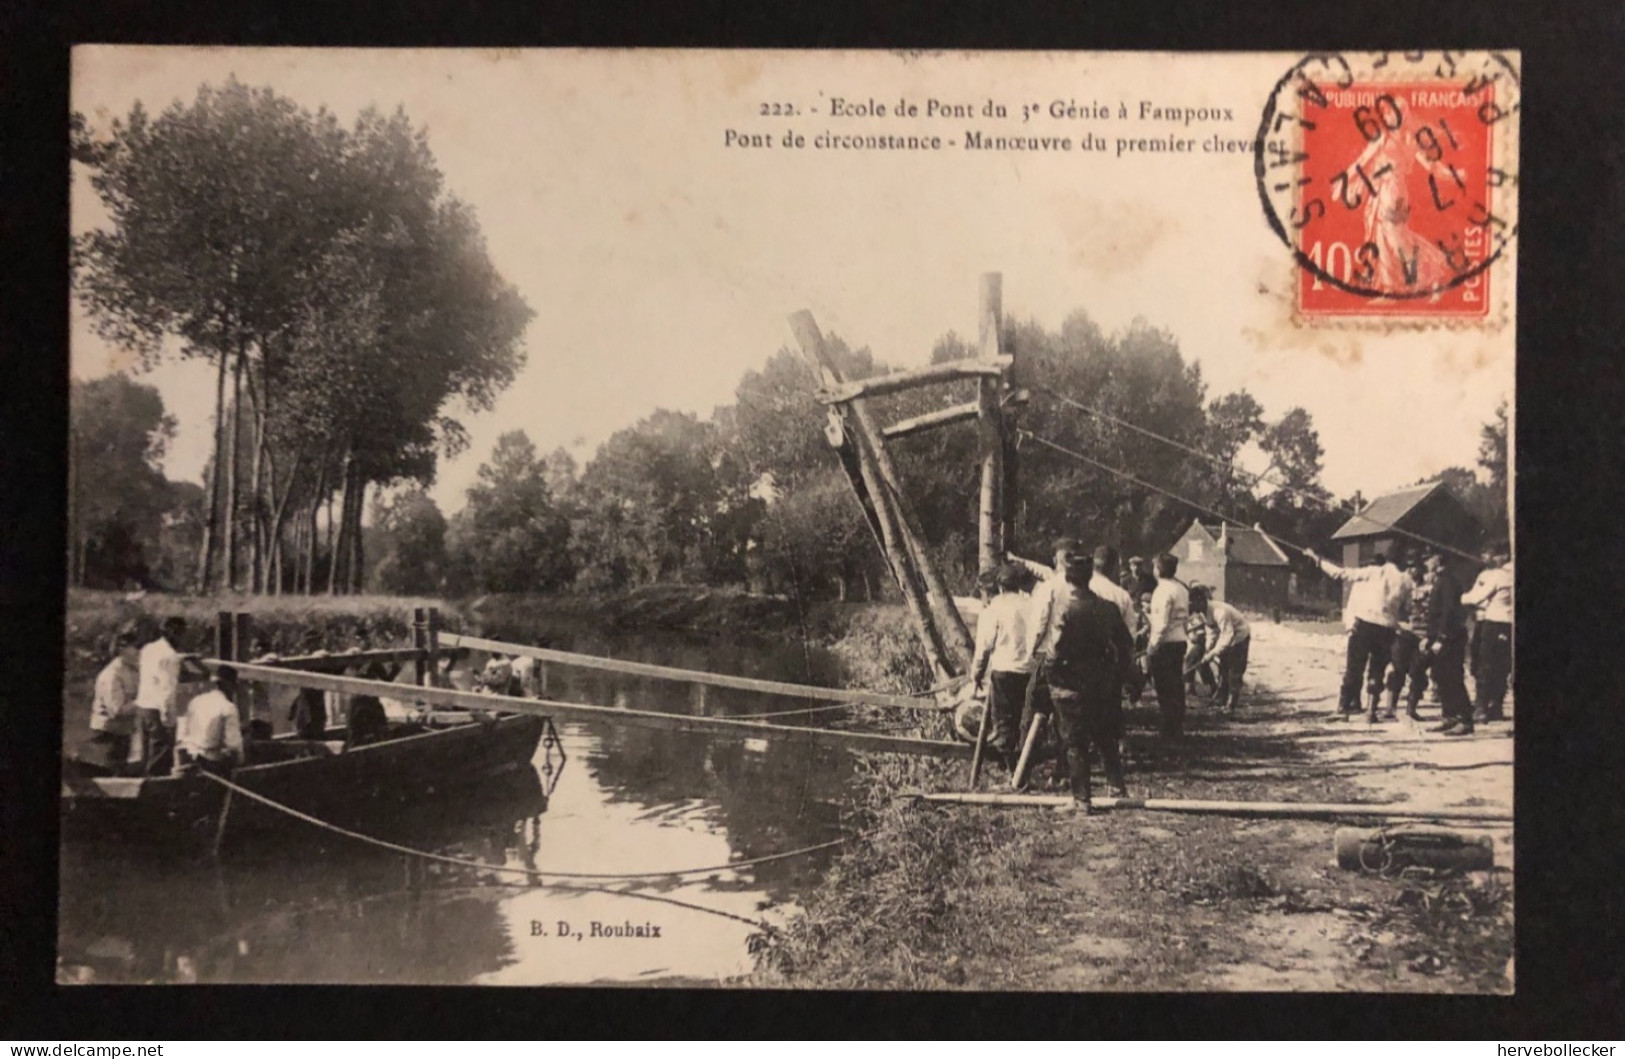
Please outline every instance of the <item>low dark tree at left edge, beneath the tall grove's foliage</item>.
[[75, 382], [68, 395], [68, 580], [146, 581], [174, 502], [158, 468], [174, 416], [154, 387], [125, 375]]

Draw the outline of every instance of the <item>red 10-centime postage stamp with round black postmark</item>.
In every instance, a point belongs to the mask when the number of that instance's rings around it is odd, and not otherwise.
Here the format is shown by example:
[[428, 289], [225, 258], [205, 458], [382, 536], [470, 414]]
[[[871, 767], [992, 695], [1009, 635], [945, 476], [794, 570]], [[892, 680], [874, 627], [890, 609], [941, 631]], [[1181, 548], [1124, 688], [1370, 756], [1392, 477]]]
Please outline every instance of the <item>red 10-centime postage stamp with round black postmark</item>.
[[1310, 55], [1264, 110], [1254, 174], [1300, 317], [1484, 318], [1516, 236], [1518, 73], [1502, 55]]

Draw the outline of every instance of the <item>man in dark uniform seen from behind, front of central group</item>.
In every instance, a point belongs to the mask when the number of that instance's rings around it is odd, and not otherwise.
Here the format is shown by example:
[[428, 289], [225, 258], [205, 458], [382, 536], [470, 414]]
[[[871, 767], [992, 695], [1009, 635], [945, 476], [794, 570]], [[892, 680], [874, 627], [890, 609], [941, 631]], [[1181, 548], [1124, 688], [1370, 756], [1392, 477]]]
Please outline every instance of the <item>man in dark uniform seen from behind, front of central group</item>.
[[1134, 642], [1123, 624], [1123, 612], [1089, 591], [1090, 573], [1089, 562], [1071, 557], [1066, 580], [1072, 598], [1064, 609], [1050, 614], [1053, 638], [1040, 637], [1042, 643], [1051, 645], [1043, 679], [1066, 750], [1072, 799], [1086, 810], [1092, 794], [1090, 744], [1100, 749], [1112, 793], [1128, 796], [1118, 739], [1123, 736], [1123, 689], [1133, 682], [1134, 668]]

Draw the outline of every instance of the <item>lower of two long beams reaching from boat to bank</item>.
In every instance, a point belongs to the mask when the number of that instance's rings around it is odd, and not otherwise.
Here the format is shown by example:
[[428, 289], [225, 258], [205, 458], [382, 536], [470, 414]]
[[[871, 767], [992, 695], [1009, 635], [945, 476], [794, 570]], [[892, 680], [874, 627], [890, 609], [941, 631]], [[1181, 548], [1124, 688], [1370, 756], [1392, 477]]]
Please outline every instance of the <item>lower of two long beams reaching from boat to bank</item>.
[[[223, 664], [218, 658], [203, 659], [205, 666]], [[970, 746], [942, 739], [908, 739], [874, 733], [837, 731], [830, 728], [795, 728], [741, 721], [725, 716], [689, 716], [684, 713], [656, 713], [653, 710], [622, 710], [619, 707], [592, 707], [578, 702], [554, 702], [548, 698], [515, 698], [512, 695], [488, 695], [460, 692], [450, 687], [413, 687], [362, 677], [338, 677], [323, 672], [296, 672], [280, 666], [237, 664], [245, 681], [262, 681], [283, 687], [314, 687], [344, 695], [379, 695], [380, 698], [406, 698], [434, 707], [457, 707], [488, 713], [530, 713], [566, 721], [622, 724], [627, 728], [653, 728], [661, 731], [707, 733], [736, 739], [782, 739], [788, 742], [847, 747], [850, 750], [874, 750], [884, 754], [913, 754], [926, 757], [970, 757]]]

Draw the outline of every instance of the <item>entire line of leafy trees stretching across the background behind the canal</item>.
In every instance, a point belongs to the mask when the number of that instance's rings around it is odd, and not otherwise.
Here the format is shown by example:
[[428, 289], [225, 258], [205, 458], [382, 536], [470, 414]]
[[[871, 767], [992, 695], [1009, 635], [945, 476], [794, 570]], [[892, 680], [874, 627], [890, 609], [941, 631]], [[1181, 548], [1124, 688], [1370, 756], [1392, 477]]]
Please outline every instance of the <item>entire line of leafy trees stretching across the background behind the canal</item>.
[[[73, 153], [110, 218], [75, 244], [76, 291], [98, 330], [143, 365], [202, 357], [214, 369], [202, 487], [158, 471], [174, 421], [153, 387], [124, 375], [75, 383], [73, 583], [886, 591], [881, 552], [824, 440], [814, 374], [788, 348], [746, 372], [733, 403], [705, 417], [655, 411], [583, 466], [505, 434], [463, 507], [442, 513], [426, 489], [439, 460], [466, 447], [457, 416], [491, 408], [514, 380], [531, 310], [405, 114], [367, 110], [343, 127], [228, 81], [156, 119], [136, 106], [106, 136], [76, 120]], [[1347, 517], [1320, 481], [1311, 416], [1269, 417], [1245, 390], [1209, 395], [1165, 330], [1136, 320], [1107, 335], [1079, 310], [1056, 330], [1006, 322], [1001, 338], [1016, 387], [1034, 391], [1019, 413], [1034, 435], [1289, 539], [1323, 541]], [[866, 348], [830, 344], [848, 378], [890, 370]], [[931, 361], [970, 356], [949, 333]], [[973, 396], [960, 382], [876, 398], [874, 411], [892, 422]], [[939, 568], [968, 591], [973, 427], [900, 439], [894, 456]], [[1263, 474], [1246, 469], [1261, 463]], [[1027, 554], [1063, 534], [1160, 551], [1196, 513], [1045, 447], [1022, 445], [1014, 465]], [[1488, 482], [1469, 468], [1443, 476], [1480, 521], [1505, 526], [1505, 406], [1484, 427], [1479, 465]]]

